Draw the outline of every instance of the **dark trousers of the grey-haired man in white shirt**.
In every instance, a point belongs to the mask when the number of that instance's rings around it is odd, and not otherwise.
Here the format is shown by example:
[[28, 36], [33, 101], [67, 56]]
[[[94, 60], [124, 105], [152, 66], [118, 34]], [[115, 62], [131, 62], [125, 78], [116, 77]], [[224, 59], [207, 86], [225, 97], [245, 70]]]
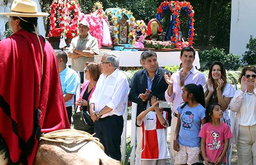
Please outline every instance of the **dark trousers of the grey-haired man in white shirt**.
[[121, 135], [123, 133], [123, 116], [113, 115], [100, 118], [94, 123], [95, 137], [100, 139], [105, 153], [115, 160], [121, 161]]

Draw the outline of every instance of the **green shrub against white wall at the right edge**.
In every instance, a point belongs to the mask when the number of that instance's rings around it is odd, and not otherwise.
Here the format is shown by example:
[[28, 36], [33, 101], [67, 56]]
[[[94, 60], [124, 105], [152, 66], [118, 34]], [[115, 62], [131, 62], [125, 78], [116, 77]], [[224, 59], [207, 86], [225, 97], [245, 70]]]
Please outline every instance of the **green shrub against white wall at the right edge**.
[[249, 43], [246, 44], [248, 51], [243, 55], [243, 62], [247, 65], [256, 64], [256, 38], [250, 37]]

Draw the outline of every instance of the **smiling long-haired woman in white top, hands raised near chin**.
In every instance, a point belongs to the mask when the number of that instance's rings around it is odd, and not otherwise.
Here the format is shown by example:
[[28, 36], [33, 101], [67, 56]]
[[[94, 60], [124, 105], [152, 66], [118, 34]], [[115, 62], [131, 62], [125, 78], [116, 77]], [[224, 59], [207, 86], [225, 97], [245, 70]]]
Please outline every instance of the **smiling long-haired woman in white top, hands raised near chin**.
[[[223, 63], [214, 61], [209, 70], [208, 80], [203, 87], [205, 95], [205, 106], [218, 103], [223, 111], [220, 120], [230, 127], [229, 102], [235, 94], [234, 88], [227, 83], [226, 69]], [[232, 144], [229, 140], [229, 148], [226, 153], [226, 164], [231, 165]]]

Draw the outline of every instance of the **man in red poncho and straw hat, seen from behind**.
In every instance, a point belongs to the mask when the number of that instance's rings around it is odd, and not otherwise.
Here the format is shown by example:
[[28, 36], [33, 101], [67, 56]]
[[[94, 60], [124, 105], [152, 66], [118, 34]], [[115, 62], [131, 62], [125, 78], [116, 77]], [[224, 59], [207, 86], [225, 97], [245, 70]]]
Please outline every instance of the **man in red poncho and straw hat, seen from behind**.
[[48, 14], [32, 0], [0, 14], [11, 16], [14, 32], [0, 41], [0, 152], [9, 164], [32, 165], [41, 133], [70, 127], [53, 48], [35, 32]]

